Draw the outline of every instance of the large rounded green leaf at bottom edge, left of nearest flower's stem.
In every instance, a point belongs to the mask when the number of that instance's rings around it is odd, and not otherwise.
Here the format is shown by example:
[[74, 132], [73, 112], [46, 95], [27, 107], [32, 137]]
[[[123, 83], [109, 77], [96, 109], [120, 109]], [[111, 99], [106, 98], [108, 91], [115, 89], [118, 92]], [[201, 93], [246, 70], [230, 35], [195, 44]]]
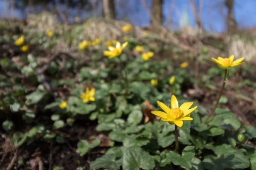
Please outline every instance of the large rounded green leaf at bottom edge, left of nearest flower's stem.
[[151, 170], [155, 167], [154, 159], [140, 147], [125, 150], [122, 161], [123, 170]]

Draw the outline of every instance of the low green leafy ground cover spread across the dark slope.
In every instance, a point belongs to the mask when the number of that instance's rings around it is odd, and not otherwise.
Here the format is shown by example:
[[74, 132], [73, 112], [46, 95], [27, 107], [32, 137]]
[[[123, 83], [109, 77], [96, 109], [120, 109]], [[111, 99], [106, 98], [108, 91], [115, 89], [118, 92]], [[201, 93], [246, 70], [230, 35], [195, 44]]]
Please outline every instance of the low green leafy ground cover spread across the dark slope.
[[[155, 47], [151, 44], [154, 42], [141, 44], [133, 37], [126, 51], [113, 59], [102, 56], [102, 49], [107, 49], [103, 43], [72, 54], [61, 53], [56, 58], [55, 53], [51, 58], [38, 52], [43, 50], [48, 54], [59, 42], [77, 49], [84, 38], [83, 30], [84, 26], [74, 28], [67, 35], [60, 31], [51, 39], [42, 32], [26, 30], [26, 42], [36, 46], [36, 50], [20, 53], [20, 63], [8, 57], [0, 59], [6, 73], [0, 74], [3, 136], [10, 137], [11, 144], [26, 147], [26, 144], [52, 142], [76, 146], [77, 154], [90, 161], [91, 169], [256, 169], [256, 128], [245, 126], [232, 109], [223, 109], [227, 108], [223, 105], [230, 103], [230, 96], [221, 96], [221, 108], [204, 124], [213, 101], [201, 104], [200, 94], [189, 91], [198, 86], [207, 88], [207, 95], [213, 89], [209, 94], [216, 96], [215, 86], [219, 85], [214, 77], [223, 77], [223, 69], [209, 68], [195, 79], [195, 71], [188, 69], [191, 62], [188, 68], [179, 68], [173, 58], [162, 61], [157, 58], [172, 45]], [[12, 44], [13, 35], [6, 36], [0, 40]], [[143, 45], [154, 56], [144, 61], [140, 53], [133, 51], [135, 45]], [[166, 52], [173, 54], [180, 50], [175, 48]], [[207, 57], [210, 51], [202, 46], [201, 53]], [[235, 71], [230, 69], [230, 77]], [[172, 76], [175, 81], [170, 84]], [[151, 85], [151, 79], [157, 79], [158, 84]], [[244, 79], [240, 86], [253, 88], [254, 84], [253, 80]], [[82, 99], [86, 88], [95, 89], [89, 101]], [[184, 121], [178, 128], [177, 153], [174, 152], [175, 125], [157, 120], [151, 114], [152, 109], [162, 111], [157, 101], [170, 104], [172, 94], [180, 105], [189, 101], [194, 102], [193, 107], [198, 106], [191, 113], [193, 121]], [[67, 105], [61, 107], [62, 102]], [[74, 131], [76, 136], [69, 134]], [[89, 138], [90, 135], [93, 136]], [[18, 163], [24, 164], [23, 160]], [[83, 168], [82, 161], [76, 164], [77, 169]], [[53, 165], [54, 170], [63, 169], [57, 165]]]

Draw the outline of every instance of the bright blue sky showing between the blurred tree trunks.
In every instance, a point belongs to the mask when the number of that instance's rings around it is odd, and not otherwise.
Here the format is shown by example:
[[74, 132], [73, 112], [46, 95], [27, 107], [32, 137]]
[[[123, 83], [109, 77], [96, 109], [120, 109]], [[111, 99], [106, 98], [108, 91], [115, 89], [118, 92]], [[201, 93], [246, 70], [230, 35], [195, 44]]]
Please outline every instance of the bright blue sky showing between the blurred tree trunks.
[[[144, 8], [143, 0], [116, 0], [116, 17], [117, 19], [131, 21], [137, 26], [147, 26], [150, 23], [148, 11]], [[151, 8], [151, 0], [144, 0], [147, 6]], [[189, 0], [163, 0], [164, 26], [177, 29], [180, 26], [181, 16], [187, 12], [189, 23], [195, 26], [195, 19], [189, 4]], [[225, 15], [227, 9], [223, 6], [224, 0], [204, 0], [202, 11], [203, 26], [207, 31], [221, 32], [225, 31]], [[64, 8], [64, 6], [63, 6]], [[256, 26], [256, 0], [235, 0], [235, 19], [240, 28]], [[14, 11], [17, 18], [26, 17], [26, 12], [20, 9]], [[98, 7], [97, 13], [101, 13], [101, 6]], [[76, 15], [76, 10], [70, 9], [70, 18], [72, 21]], [[90, 14], [84, 12], [81, 18], [86, 18]], [[0, 17], [5, 17], [5, 8], [3, 0], [0, 0]], [[170, 21], [171, 24], [170, 24]]]

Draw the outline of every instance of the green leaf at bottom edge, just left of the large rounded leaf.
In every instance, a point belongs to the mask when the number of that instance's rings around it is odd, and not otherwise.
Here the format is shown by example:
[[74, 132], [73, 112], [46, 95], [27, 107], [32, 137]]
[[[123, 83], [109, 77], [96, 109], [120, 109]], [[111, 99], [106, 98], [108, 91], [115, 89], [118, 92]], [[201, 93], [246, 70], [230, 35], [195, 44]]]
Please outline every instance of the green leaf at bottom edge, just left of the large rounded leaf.
[[90, 163], [91, 169], [105, 168], [108, 170], [119, 169], [122, 165], [122, 159], [117, 157], [115, 154], [105, 154], [104, 156], [97, 158], [95, 161]]

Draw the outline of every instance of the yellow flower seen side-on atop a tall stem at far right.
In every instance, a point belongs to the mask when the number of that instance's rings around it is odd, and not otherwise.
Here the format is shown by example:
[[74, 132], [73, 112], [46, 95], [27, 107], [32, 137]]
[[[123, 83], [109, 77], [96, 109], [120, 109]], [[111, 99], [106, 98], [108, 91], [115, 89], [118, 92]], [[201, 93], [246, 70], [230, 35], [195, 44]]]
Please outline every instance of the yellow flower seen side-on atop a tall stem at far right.
[[225, 68], [225, 69], [244, 64], [244, 62], [242, 62], [244, 60], [244, 57], [239, 58], [236, 61], [233, 61], [233, 60], [234, 60], [234, 55], [230, 56], [229, 58], [222, 58], [222, 57], [218, 57], [218, 59], [212, 58], [213, 62], [217, 63], [219, 67]]

